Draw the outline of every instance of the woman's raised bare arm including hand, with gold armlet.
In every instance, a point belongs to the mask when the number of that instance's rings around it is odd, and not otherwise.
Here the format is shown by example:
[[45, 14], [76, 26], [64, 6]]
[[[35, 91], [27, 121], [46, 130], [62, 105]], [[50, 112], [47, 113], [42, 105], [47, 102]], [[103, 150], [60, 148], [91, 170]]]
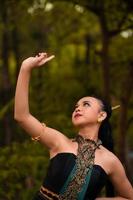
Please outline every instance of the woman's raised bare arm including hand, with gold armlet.
[[38, 138], [51, 152], [56, 152], [68, 140], [67, 137], [55, 129], [43, 126], [39, 120], [32, 116], [28, 100], [32, 69], [44, 65], [53, 58], [53, 55], [48, 57], [46, 53], [40, 53], [38, 56], [23, 61], [15, 93], [14, 118], [32, 138]]

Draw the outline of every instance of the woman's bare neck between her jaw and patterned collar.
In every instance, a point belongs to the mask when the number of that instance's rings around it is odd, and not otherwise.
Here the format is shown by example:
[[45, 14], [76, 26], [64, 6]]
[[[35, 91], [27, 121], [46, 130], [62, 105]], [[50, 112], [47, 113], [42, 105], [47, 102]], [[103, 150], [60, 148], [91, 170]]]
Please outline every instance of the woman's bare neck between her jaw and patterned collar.
[[98, 140], [98, 130], [99, 127], [89, 125], [79, 129], [79, 135], [81, 135], [85, 139], [90, 139], [97, 141]]

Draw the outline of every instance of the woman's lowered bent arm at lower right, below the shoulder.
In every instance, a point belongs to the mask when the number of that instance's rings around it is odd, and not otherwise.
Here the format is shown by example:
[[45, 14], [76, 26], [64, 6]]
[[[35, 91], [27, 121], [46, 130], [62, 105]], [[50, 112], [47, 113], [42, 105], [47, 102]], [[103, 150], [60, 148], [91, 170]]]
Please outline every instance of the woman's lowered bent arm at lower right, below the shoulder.
[[111, 164], [110, 180], [116, 190], [118, 196], [107, 198], [96, 198], [96, 200], [133, 200], [133, 188], [130, 184], [123, 165], [120, 160], [114, 155]]

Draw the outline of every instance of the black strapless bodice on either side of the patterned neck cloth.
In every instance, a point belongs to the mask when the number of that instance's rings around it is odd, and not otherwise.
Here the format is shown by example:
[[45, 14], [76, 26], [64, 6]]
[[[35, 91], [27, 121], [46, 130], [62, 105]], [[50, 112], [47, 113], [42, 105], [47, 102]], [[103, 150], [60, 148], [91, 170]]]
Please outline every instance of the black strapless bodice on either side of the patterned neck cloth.
[[[50, 160], [47, 175], [43, 186], [56, 194], [59, 194], [69, 173], [75, 165], [76, 155], [73, 153], [59, 153]], [[104, 187], [107, 181], [107, 174], [99, 165], [94, 165], [88, 189], [84, 200], [94, 200]], [[39, 192], [34, 200], [44, 200]]]

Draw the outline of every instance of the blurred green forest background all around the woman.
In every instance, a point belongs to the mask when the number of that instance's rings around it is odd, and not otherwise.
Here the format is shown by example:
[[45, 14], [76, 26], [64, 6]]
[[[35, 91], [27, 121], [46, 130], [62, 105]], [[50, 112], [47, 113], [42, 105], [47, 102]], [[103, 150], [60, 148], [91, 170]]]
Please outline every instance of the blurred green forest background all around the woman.
[[100, 94], [120, 104], [115, 152], [133, 183], [132, 11], [132, 0], [0, 0], [0, 200], [32, 199], [46, 173], [47, 150], [13, 117], [21, 62], [43, 51], [55, 59], [32, 73], [31, 112], [74, 137], [77, 99]]

